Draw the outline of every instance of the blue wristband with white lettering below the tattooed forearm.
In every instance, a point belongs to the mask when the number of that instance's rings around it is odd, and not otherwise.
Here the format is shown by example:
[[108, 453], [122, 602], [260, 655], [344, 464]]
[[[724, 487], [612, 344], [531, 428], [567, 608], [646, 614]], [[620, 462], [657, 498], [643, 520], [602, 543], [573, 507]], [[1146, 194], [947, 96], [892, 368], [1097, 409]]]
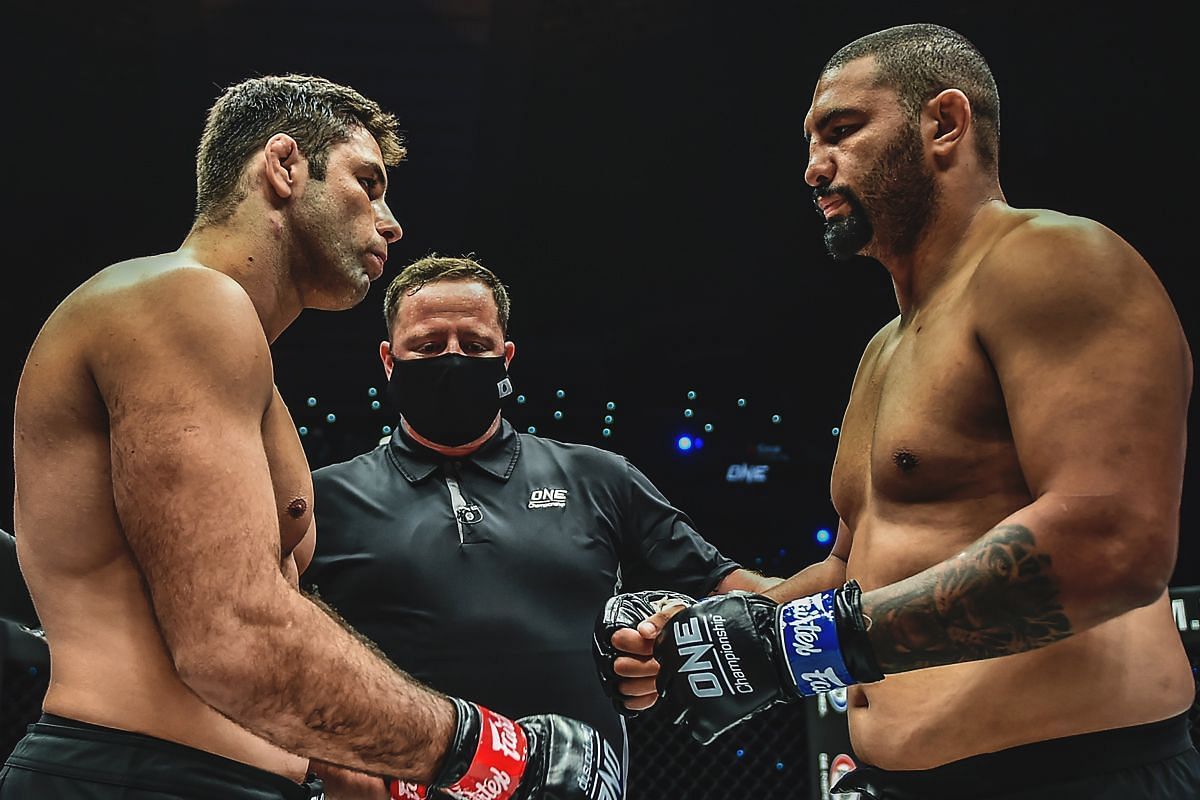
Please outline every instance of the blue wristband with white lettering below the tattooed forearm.
[[779, 607], [775, 618], [787, 672], [804, 697], [856, 682], [846, 667], [834, 619], [834, 591], [818, 591]]

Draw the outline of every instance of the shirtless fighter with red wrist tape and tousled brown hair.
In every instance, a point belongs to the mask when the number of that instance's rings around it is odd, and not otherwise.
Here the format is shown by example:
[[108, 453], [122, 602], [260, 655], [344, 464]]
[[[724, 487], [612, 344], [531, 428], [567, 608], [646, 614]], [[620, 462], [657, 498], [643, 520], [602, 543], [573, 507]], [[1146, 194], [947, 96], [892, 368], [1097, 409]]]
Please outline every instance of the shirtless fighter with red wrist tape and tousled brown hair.
[[44, 323], [17, 392], [14, 518], [52, 681], [4, 800], [319, 796], [310, 768], [332, 796], [386, 798], [386, 778], [397, 796], [606, 796], [592, 728], [436, 692], [298, 589], [312, 480], [270, 345], [383, 275], [403, 155], [353, 89], [234, 85], [182, 246], [100, 270]]

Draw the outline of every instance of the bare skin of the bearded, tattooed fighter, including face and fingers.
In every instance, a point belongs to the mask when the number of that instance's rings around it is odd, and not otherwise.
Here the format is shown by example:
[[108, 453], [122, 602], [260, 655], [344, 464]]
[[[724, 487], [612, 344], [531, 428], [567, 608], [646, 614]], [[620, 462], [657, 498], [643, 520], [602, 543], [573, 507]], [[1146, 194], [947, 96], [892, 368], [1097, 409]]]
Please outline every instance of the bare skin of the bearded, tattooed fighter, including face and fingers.
[[[1009, 206], [958, 89], [913, 115], [859, 58], [805, 131], [827, 247], [878, 260], [900, 309], [851, 390], [830, 555], [763, 591], [860, 583], [886, 678], [850, 688], [854, 752], [920, 770], [1184, 712], [1192, 355], [1153, 270], [1094, 221]], [[613, 634], [629, 708], [654, 703], [668, 618]]]

